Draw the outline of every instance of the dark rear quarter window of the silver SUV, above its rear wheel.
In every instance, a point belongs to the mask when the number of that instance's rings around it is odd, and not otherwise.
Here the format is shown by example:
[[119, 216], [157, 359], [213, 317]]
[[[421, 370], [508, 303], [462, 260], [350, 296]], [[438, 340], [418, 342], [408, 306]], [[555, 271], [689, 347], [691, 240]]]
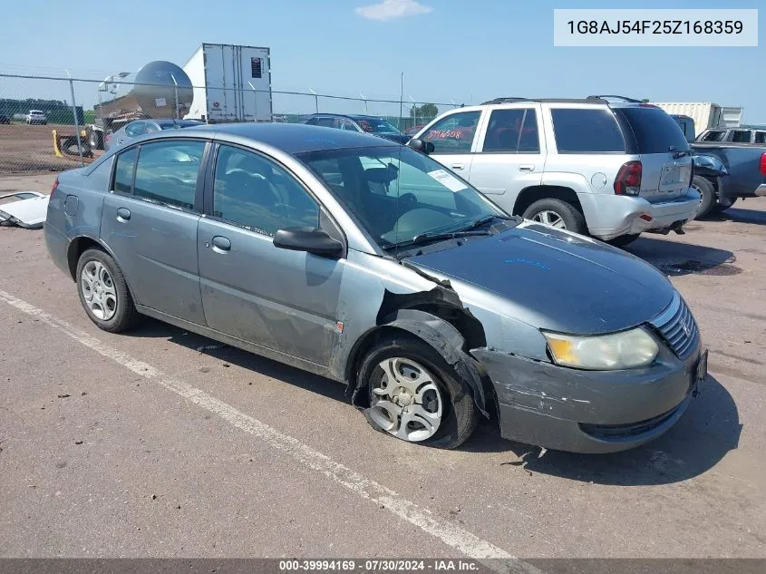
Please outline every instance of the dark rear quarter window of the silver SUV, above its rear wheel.
[[620, 126], [608, 110], [558, 108], [552, 109], [550, 115], [558, 153], [625, 151]]

